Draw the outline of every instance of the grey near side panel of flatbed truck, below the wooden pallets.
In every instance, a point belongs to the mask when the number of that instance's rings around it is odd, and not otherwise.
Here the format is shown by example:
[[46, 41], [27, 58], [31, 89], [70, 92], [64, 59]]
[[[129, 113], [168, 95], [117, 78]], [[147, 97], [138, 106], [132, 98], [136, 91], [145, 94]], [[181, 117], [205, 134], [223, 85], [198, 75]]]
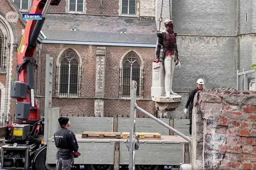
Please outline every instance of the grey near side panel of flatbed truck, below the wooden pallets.
[[[82, 138], [82, 134], [75, 134], [79, 145], [79, 158], [74, 164], [92, 168], [96, 164], [109, 166], [107, 170], [118, 170], [119, 167], [129, 165], [129, 151], [127, 139], [116, 138]], [[135, 151], [135, 165], [155, 166], [153, 170], [160, 170], [166, 165], [179, 165], [189, 162], [189, 143], [177, 135], [161, 135], [161, 139], [139, 139], [139, 149]], [[53, 138], [48, 140], [46, 163], [56, 162], [56, 151]], [[97, 170], [92, 168], [92, 170]]]

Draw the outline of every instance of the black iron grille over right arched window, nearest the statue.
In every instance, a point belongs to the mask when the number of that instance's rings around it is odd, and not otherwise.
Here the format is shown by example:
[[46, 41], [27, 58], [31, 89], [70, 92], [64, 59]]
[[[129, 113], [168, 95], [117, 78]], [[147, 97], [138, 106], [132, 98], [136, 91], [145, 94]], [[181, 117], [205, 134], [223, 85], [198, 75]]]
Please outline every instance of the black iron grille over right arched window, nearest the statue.
[[130, 67], [119, 70], [119, 98], [130, 98], [132, 80], [137, 82], [136, 97], [143, 98], [144, 69]]

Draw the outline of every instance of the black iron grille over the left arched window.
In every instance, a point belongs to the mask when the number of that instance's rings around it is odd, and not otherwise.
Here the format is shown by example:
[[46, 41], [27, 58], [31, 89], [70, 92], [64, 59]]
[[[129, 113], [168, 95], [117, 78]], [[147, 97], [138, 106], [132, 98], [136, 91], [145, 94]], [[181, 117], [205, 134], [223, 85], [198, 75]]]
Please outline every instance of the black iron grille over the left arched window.
[[60, 66], [56, 66], [55, 96], [81, 96], [81, 71], [82, 67], [76, 64], [61, 64]]

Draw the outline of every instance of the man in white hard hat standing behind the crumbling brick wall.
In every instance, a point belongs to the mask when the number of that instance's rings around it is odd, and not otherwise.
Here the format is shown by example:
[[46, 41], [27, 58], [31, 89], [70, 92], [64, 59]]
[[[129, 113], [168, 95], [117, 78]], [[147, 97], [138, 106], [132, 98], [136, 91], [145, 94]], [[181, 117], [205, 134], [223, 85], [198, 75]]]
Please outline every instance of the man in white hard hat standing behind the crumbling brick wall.
[[186, 106], [185, 106], [185, 110], [184, 110], [184, 113], [187, 114], [188, 113], [188, 106], [190, 104], [190, 107], [189, 107], [189, 138], [191, 138], [191, 134], [192, 134], [192, 109], [193, 109], [193, 106], [194, 106], [194, 96], [195, 94], [197, 93], [198, 90], [201, 90], [203, 89], [203, 84], [205, 84], [203, 82], [203, 79], [198, 79], [196, 81], [196, 89], [193, 89], [189, 95], [189, 98], [188, 98], [188, 101], [186, 103]]

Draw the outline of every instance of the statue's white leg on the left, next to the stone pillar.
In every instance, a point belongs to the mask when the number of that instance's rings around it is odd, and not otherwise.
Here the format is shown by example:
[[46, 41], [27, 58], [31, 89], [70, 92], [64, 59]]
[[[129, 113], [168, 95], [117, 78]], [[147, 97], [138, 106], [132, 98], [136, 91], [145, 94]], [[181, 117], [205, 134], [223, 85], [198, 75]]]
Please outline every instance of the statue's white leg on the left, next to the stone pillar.
[[164, 78], [164, 86], [166, 90], [166, 97], [170, 97], [170, 82], [171, 82], [171, 56], [166, 56], [164, 59], [164, 72], [165, 72], [165, 78]]

